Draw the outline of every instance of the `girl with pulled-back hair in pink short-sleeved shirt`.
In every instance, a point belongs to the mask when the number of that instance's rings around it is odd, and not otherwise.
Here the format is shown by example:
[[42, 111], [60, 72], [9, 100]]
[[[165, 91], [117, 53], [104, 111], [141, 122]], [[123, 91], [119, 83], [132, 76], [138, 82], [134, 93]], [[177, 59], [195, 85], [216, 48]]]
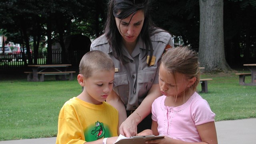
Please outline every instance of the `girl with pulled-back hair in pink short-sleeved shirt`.
[[164, 135], [153, 144], [217, 144], [215, 114], [196, 91], [200, 81], [196, 52], [187, 47], [168, 50], [159, 70], [159, 86], [164, 96], [152, 104], [152, 128], [138, 135]]

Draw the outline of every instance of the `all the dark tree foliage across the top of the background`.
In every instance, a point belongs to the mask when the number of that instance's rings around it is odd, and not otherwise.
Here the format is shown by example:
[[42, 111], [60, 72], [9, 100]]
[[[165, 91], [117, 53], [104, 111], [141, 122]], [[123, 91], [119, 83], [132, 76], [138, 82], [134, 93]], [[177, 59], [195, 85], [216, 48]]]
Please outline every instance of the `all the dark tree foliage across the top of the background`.
[[[47, 36], [48, 63], [51, 44], [70, 34], [94, 39], [104, 32], [108, 0], [1, 0], [0, 29], [8, 41], [20, 43], [38, 52]], [[224, 0], [224, 52], [228, 64], [256, 61], [256, 1]], [[174, 37], [181, 36], [184, 45], [199, 51], [199, 0], [155, 0], [153, 21]], [[32, 45], [30, 45], [33, 41]], [[34, 58], [34, 61], [36, 58]], [[32, 60], [29, 59], [29, 63]]]

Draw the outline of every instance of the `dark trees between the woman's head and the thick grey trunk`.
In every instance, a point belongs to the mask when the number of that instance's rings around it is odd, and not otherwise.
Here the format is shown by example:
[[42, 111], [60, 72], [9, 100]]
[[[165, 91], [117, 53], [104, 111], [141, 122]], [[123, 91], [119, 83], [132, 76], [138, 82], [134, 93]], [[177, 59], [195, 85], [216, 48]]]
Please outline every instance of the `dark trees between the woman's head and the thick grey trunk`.
[[199, 1], [157, 0], [153, 5], [152, 16], [156, 26], [168, 30], [174, 38], [181, 36], [184, 45], [198, 51]]

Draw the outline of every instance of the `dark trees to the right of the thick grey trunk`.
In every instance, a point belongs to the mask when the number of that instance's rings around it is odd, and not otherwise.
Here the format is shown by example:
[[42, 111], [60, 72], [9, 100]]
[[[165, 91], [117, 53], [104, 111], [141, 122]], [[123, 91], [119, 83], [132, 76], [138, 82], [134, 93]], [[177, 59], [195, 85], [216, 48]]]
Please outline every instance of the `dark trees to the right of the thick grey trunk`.
[[255, 17], [255, 0], [224, 0], [226, 60], [233, 67], [256, 62]]

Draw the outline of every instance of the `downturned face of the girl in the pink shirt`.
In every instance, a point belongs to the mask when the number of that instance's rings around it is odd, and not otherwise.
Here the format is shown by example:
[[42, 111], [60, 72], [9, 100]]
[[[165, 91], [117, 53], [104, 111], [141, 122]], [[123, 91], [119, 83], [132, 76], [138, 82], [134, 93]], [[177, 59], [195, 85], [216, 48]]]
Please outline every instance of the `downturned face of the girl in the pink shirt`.
[[[176, 82], [175, 82], [176, 79]], [[159, 68], [159, 86], [165, 96], [183, 96], [183, 92], [189, 88], [189, 80], [184, 74], [176, 72], [176, 76], [169, 74], [163, 64]]]

